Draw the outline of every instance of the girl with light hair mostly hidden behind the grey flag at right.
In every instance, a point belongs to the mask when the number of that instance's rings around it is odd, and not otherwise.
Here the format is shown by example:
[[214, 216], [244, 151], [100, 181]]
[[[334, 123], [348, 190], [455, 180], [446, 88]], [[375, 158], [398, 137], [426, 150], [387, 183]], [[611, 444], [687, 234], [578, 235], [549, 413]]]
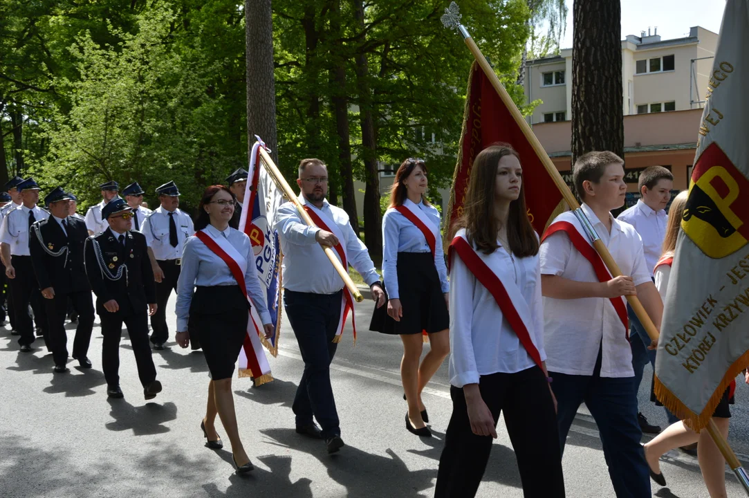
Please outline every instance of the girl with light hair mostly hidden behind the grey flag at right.
[[[655, 267], [655, 287], [658, 288], [658, 292], [661, 294], [664, 303], [666, 302], [673, 255], [676, 251], [676, 239], [679, 237], [682, 215], [684, 214], [687, 198], [688, 192], [684, 191], [676, 195], [676, 198], [671, 203], [668, 212], [666, 237], [663, 242], [663, 255]], [[726, 389], [723, 398], [718, 403], [718, 407], [715, 407], [715, 411], [712, 414], [712, 419], [715, 421], [718, 429], [720, 429], [723, 437], [728, 437], [728, 422], [731, 416], [729, 391], [730, 388]], [[702, 431], [700, 434], [697, 434], [681, 421], [669, 425], [661, 434], [658, 434], [658, 436], [645, 444], [645, 459], [648, 461], [650, 467], [650, 477], [659, 485], [665, 486], [666, 478], [661, 473], [661, 466], [658, 460], [664, 453], [692, 443], [697, 443], [697, 461], [700, 464], [700, 470], [702, 470], [705, 486], [710, 497], [727, 497], [726, 461], [723, 455], [721, 455], [720, 450], [718, 450], [718, 446], [715, 446], [708, 431]]]

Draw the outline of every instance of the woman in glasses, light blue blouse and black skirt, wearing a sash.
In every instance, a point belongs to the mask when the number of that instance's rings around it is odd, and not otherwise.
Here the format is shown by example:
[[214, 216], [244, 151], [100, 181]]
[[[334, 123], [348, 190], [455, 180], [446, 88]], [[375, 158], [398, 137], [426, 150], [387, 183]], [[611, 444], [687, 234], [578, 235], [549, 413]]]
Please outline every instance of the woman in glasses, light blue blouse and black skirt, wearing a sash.
[[[178, 344], [189, 345], [187, 322], [191, 320], [197, 328], [210, 371], [208, 403], [200, 424], [207, 446], [223, 447], [214, 427], [218, 414], [231, 443], [237, 473], [243, 474], [253, 467], [239, 438], [231, 377], [247, 334], [249, 303], [246, 295], [258, 309], [267, 338], [273, 335], [273, 325], [258, 281], [249, 237], [228, 225], [236, 200], [225, 186], [212, 185], [205, 189], [198, 206], [195, 236], [189, 237], [182, 255], [176, 308]], [[230, 270], [219, 252], [233, 259], [238, 269]], [[235, 276], [234, 271], [243, 274]], [[245, 289], [240, 288], [240, 281]]]

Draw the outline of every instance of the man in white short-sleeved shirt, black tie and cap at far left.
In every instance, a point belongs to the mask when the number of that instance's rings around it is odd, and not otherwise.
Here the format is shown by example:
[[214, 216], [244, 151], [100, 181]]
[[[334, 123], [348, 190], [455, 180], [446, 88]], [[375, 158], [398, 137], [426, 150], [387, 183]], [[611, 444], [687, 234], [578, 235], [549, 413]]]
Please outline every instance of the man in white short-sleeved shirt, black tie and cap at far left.
[[31, 267], [31, 255], [28, 252], [28, 232], [34, 222], [49, 216], [37, 206], [39, 186], [34, 178], [23, 180], [16, 186], [21, 192], [22, 204], [10, 210], [0, 228], [0, 255], [5, 264], [5, 275], [10, 279], [10, 293], [13, 295], [13, 312], [16, 315], [16, 330], [19, 332], [18, 344], [21, 351], [31, 351], [34, 337], [34, 323], [28, 314], [28, 305], [34, 310], [34, 319], [40, 328], [44, 341], [47, 341], [46, 313], [42, 304], [34, 268]]

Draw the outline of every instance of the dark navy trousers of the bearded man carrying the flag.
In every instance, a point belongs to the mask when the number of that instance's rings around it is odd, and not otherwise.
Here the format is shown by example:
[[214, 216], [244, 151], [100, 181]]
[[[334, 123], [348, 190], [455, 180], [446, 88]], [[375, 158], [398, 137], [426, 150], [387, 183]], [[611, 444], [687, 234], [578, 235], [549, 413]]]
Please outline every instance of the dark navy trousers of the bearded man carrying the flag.
[[309, 424], [314, 415], [324, 438], [341, 435], [330, 385], [330, 363], [338, 347], [333, 338], [341, 319], [341, 297], [340, 291], [330, 295], [284, 291], [286, 316], [304, 360], [304, 373], [291, 409], [297, 426]]

